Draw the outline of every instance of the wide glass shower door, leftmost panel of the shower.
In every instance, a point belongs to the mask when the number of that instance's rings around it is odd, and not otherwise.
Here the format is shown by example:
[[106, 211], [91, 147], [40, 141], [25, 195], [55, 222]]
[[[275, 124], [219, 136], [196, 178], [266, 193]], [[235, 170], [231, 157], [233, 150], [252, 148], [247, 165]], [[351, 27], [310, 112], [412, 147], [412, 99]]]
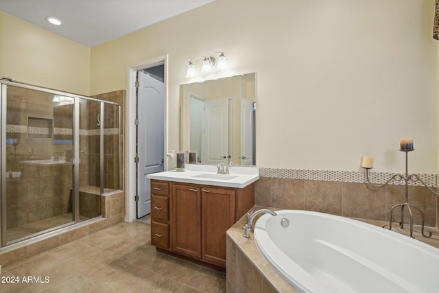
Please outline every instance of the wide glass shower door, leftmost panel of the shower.
[[5, 246], [73, 224], [74, 103], [32, 86], [1, 90]]

